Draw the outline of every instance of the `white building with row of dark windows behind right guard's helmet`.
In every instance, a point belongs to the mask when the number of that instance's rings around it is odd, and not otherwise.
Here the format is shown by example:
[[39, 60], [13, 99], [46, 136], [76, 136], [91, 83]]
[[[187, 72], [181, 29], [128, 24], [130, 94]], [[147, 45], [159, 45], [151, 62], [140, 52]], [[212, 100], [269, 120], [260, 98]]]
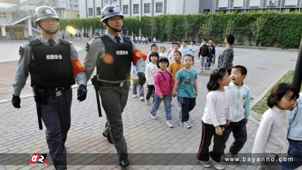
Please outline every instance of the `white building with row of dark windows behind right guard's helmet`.
[[116, 5], [124, 16], [198, 14], [203, 0], [80, 0], [80, 18], [101, 17], [106, 5]]

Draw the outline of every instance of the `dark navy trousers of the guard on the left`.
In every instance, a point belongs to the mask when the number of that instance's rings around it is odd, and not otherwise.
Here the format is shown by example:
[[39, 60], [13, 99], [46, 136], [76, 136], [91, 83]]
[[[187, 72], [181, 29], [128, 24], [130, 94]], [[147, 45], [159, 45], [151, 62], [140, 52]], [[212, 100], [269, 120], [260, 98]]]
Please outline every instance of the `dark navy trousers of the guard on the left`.
[[64, 144], [70, 128], [71, 101], [72, 90], [69, 88], [61, 96], [48, 97], [47, 104], [40, 104], [50, 157], [57, 170], [67, 168]]

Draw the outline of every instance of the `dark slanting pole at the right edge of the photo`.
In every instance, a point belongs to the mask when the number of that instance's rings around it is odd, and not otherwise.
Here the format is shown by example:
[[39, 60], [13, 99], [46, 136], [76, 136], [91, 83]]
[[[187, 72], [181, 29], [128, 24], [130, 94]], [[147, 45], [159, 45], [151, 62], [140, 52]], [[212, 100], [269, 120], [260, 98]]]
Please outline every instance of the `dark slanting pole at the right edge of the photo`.
[[302, 83], [302, 36], [301, 36], [301, 41], [300, 41], [300, 48], [299, 48], [299, 53], [297, 57], [297, 63], [295, 67], [295, 72], [294, 72], [294, 78], [293, 78], [293, 86], [300, 91], [301, 88], [301, 83]]

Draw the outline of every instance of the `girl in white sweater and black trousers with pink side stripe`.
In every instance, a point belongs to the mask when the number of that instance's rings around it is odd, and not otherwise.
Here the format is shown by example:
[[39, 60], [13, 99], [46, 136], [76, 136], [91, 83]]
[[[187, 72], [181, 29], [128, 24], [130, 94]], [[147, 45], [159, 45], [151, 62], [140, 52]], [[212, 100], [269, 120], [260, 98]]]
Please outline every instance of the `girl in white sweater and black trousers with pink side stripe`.
[[[216, 69], [210, 75], [207, 84], [207, 94], [204, 115], [202, 116], [201, 142], [197, 159], [204, 167], [214, 165], [216, 169], [224, 169], [220, 164], [221, 154], [224, 148], [223, 130], [233, 119], [230, 113], [231, 95], [230, 91], [224, 88], [229, 86], [230, 78], [226, 69]], [[213, 151], [209, 152], [211, 139], [214, 136]], [[211, 160], [210, 160], [211, 157]]]

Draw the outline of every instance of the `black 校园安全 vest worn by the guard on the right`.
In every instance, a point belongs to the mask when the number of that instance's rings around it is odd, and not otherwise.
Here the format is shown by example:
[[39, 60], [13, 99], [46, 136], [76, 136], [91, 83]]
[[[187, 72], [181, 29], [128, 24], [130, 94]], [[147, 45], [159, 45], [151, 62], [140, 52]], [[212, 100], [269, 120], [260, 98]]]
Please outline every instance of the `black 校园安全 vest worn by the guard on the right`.
[[107, 35], [100, 37], [105, 45], [105, 55], [97, 65], [97, 74], [102, 80], [130, 80], [132, 43], [123, 36], [124, 43], [116, 43]]

